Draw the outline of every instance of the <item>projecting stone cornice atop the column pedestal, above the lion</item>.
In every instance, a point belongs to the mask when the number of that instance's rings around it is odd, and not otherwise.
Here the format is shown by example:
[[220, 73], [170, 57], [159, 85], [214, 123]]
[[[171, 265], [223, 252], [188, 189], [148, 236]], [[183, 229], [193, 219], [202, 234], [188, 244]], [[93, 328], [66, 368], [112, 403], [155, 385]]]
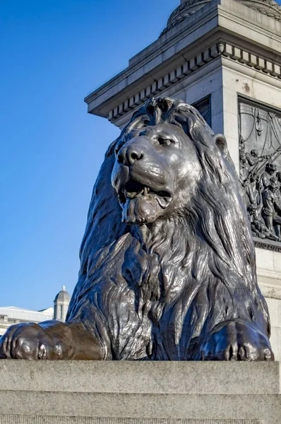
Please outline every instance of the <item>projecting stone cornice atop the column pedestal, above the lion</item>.
[[[217, 45], [220, 40], [226, 45], [225, 58], [237, 60], [237, 66], [246, 64], [244, 57], [249, 52], [265, 63], [273, 63], [274, 69], [269, 70], [269, 76], [277, 73], [277, 66], [281, 64], [281, 23], [277, 20], [261, 16], [261, 13], [241, 4], [241, 1], [212, 0], [193, 13], [189, 23], [192, 25], [186, 25], [186, 20], [183, 20], [177, 25], [177, 30], [168, 31], [133, 57], [128, 68], [88, 95], [85, 98], [88, 112], [101, 117], [109, 116], [115, 122], [146, 98], [157, 95], [167, 86], [194, 73], [196, 69], [193, 67], [189, 73], [181, 72], [181, 66], [189, 66], [186, 62], [203, 55], [203, 60], [198, 61], [199, 69], [213, 60], [206, 59], [205, 50]], [[241, 49], [241, 61], [229, 54], [227, 45], [232, 44], [234, 48]], [[221, 54], [222, 57], [224, 55]], [[248, 67], [250, 65], [250, 62], [246, 64]], [[267, 72], [266, 69], [264, 72]], [[164, 80], [165, 83], [162, 82]]]

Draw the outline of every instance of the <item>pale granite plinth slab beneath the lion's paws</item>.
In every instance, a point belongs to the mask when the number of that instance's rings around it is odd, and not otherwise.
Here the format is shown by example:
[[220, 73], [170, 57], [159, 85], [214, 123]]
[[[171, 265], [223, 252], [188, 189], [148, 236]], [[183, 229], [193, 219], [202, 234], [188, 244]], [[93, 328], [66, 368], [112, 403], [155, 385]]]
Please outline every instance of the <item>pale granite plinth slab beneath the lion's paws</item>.
[[0, 361], [1, 424], [280, 422], [280, 363]]

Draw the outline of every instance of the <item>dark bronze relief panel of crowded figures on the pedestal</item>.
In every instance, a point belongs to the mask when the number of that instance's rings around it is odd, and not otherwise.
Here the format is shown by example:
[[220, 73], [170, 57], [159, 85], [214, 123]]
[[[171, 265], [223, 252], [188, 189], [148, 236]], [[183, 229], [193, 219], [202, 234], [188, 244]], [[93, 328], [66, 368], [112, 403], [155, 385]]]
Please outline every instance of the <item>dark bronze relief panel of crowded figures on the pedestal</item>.
[[281, 112], [239, 99], [239, 163], [256, 247], [281, 252]]

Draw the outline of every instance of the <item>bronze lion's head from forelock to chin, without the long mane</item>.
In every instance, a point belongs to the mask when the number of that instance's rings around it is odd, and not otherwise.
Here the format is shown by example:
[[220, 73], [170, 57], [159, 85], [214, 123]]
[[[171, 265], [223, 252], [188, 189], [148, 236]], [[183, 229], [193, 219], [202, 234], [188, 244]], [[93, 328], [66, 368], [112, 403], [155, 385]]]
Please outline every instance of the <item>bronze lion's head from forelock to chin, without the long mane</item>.
[[184, 102], [150, 100], [133, 116], [116, 142], [112, 170], [125, 223], [151, 223], [184, 213], [198, 195], [204, 175], [192, 134], [196, 129], [208, 132], [210, 157], [215, 149], [225, 154], [225, 138], [211, 134], [201, 115]]

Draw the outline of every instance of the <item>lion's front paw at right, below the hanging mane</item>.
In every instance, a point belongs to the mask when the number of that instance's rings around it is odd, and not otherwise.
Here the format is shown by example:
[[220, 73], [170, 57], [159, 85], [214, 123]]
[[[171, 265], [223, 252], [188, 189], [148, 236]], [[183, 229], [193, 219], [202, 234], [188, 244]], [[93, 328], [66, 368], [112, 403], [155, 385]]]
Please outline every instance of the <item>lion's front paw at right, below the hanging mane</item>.
[[240, 320], [218, 324], [201, 355], [202, 360], [274, 360], [268, 337]]

